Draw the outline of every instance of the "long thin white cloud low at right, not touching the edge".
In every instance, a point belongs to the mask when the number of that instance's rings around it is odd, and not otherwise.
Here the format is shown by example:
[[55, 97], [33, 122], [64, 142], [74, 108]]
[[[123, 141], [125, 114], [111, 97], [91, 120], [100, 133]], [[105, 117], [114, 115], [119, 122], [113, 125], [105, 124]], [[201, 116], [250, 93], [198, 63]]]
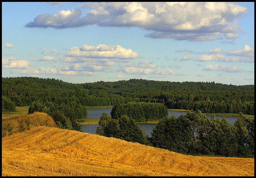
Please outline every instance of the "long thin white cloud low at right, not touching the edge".
[[203, 71], [225, 71], [225, 72], [250, 72], [246, 71], [243, 67], [237, 67], [237, 66], [232, 66], [232, 67], [226, 67], [224, 65], [218, 66], [218, 65], [207, 65]]

